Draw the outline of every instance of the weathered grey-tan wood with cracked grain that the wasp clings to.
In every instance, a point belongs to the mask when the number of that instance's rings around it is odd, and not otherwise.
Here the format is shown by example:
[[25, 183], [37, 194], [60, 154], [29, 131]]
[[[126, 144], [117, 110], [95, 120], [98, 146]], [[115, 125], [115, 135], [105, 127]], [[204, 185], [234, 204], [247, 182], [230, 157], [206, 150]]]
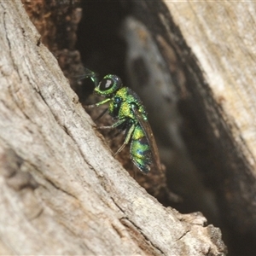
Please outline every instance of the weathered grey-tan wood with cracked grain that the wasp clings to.
[[20, 1], [0, 20], [0, 253], [223, 253], [218, 229], [162, 207], [113, 159]]

